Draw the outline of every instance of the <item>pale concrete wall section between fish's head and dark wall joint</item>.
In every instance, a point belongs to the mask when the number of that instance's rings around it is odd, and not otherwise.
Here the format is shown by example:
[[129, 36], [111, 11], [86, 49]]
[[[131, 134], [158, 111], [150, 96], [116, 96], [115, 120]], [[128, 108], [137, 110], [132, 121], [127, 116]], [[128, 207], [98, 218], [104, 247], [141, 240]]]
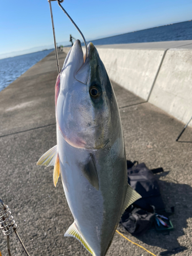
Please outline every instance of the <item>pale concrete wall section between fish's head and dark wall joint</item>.
[[97, 50], [113, 81], [145, 100], [148, 98], [164, 50]]

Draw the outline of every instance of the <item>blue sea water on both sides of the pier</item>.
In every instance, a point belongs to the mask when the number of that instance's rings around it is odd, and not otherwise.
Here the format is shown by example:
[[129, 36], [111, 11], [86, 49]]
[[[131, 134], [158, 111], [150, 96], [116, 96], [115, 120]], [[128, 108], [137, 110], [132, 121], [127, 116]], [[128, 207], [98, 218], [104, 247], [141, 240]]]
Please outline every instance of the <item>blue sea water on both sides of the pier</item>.
[[[192, 40], [192, 22], [181, 22], [166, 26], [110, 36], [92, 40], [94, 45], [131, 44], [135, 42]], [[83, 45], [83, 44], [82, 44]], [[0, 91], [52, 50], [0, 59]]]

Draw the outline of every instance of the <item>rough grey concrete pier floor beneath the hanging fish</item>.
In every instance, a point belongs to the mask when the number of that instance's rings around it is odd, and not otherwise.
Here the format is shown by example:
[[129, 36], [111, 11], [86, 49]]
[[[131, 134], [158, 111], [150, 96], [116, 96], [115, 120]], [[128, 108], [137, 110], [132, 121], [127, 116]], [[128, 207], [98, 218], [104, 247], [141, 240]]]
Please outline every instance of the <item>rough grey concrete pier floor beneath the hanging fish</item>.
[[[60, 65], [66, 54], [59, 52]], [[30, 255], [91, 255], [74, 238], [63, 234], [73, 223], [59, 178], [53, 184], [53, 167], [36, 166], [39, 157], [56, 144], [54, 86], [57, 77], [54, 52], [39, 61], [0, 93], [0, 197], [12, 210], [18, 233]], [[192, 250], [192, 129], [176, 142], [183, 123], [157, 106], [112, 82], [119, 104], [126, 156], [148, 168], [163, 167], [156, 175], [166, 206], [175, 206], [170, 233], [148, 230], [143, 236], [124, 235], [155, 255], [179, 246], [178, 256]], [[120, 229], [121, 231], [121, 229]], [[24, 251], [10, 237], [12, 255]], [[0, 250], [8, 255], [0, 231]], [[115, 233], [108, 256], [147, 256], [148, 252]]]

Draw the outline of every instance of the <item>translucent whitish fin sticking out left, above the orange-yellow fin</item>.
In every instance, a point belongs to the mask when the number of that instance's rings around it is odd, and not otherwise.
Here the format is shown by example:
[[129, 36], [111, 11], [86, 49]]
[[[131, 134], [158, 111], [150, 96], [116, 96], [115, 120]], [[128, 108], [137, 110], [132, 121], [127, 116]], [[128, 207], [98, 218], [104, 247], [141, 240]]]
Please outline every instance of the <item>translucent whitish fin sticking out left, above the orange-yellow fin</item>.
[[44, 155], [40, 157], [37, 165], [54, 166], [57, 156], [57, 145], [48, 150]]

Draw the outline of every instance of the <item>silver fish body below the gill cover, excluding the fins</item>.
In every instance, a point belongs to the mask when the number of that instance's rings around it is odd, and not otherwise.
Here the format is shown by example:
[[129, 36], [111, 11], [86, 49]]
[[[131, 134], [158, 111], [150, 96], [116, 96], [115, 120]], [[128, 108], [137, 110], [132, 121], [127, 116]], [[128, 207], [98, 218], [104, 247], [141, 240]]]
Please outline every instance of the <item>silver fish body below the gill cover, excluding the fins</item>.
[[[57, 132], [60, 173], [74, 221], [96, 256], [103, 256], [118, 225], [124, 204], [127, 179], [123, 141], [100, 150], [68, 144]], [[115, 149], [121, 148], [120, 152]], [[123, 148], [123, 150], [122, 150]], [[83, 174], [90, 154], [94, 158], [99, 188]]]

